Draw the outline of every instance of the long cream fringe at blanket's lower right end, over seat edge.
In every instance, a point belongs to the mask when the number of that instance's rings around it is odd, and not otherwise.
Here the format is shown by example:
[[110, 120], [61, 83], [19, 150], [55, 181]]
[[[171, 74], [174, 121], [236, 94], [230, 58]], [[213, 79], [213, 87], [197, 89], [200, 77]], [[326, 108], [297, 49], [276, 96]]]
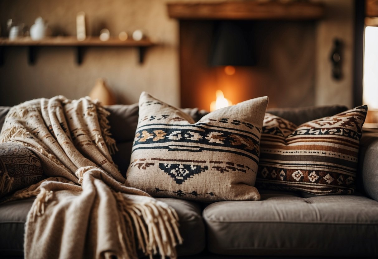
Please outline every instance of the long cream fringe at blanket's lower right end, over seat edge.
[[122, 213], [118, 234], [124, 253], [129, 258], [138, 258], [134, 239], [125, 238], [122, 233], [126, 237], [136, 236], [138, 248], [150, 258], [156, 253], [161, 258], [176, 258], [175, 246], [183, 242], [178, 231], [176, 211], [161, 202], [151, 200], [137, 204], [124, 199], [121, 193], [114, 195]]

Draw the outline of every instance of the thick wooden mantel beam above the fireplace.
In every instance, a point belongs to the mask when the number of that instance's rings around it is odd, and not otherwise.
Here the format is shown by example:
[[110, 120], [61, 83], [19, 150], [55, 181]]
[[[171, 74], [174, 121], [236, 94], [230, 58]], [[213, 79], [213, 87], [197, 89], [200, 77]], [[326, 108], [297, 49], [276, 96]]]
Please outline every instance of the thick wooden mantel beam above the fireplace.
[[170, 18], [181, 20], [317, 20], [325, 6], [313, 2], [226, 1], [168, 3]]

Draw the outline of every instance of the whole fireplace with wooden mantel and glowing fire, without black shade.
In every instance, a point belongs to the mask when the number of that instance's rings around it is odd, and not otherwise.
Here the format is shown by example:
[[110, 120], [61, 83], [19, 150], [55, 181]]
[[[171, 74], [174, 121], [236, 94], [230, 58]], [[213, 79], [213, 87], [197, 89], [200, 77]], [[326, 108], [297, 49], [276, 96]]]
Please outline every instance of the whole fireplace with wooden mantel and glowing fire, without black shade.
[[[168, 4], [168, 12], [179, 21], [181, 107], [209, 109], [217, 89], [232, 103], [267, 95], [269, 107], [315, 104], [315, 31], [322, 4], [181, 3]], [[256, 66], [236, 66], [229, 76], [224, 67], [209, 65], [219, 20], [246, 20], [253, 26]]]

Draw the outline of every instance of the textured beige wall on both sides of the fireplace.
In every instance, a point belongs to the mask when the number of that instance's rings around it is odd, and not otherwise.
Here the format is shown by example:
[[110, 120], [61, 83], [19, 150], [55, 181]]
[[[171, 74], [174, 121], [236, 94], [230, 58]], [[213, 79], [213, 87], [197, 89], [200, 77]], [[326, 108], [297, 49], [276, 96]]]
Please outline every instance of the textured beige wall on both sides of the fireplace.
[[[217, 1], [217, 0], [212, 0]], [[95, 80], [104, 77], [119, 103], [138, 101], [141, 91], [180, 105], [178, 68], [178, 23], [169, 19], [166, 0], [2, 0], [0, 24], [6, 20], [32, 25], [42, 16], [53, 32], [76, 35], [76, 14], [87, 15], [87, 34], [98, 35], [108, 28], [112, 35], [122, 30], [146, 29], [158, 39], [159, 46], [147, 49], [145, 62], [138, 64], [134, 48], [88, 48], [81, 66], [75, 63], [71, 47], [40, 48], [34, 66], [27, 64], [27, 48], [7, 48], [5, 64], [0, 67], [0, 105], [15, 105], [22, 101], [62, 94], [71, 99], [89, 93]], [[177, 2], [177, 1], [175, 1]], [[196, 0], [196, 2], [198, 2]], [[316, 26], [316, 72], [313, 86], [289, 89], [307, 96], [315, 88], [314, 103], [325, 105], [352, 103], [353, 0], [322, 1], [327, 15]], [[339, 37], [344, 42], [344, 78], [331, 77], [329, 60], [332, 42]], [[296, 74], [294, 74], [297, 76]], [[294, 76], [293, 75], [293, 76]], [[293, 79], [295, 80], [295, 79]], [[290, 92], [288, 90], [288, 92]], [[287, 106], [296, 106], [295, 102]]]

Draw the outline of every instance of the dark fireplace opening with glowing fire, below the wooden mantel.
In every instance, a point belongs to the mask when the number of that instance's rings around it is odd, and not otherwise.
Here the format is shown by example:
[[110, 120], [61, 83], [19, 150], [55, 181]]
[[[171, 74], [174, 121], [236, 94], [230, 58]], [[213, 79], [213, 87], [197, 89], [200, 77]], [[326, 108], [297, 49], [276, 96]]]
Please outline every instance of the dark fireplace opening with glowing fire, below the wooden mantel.
[[[234, 104], [269, 96], [270, 108], [314, 105], [315, 22], [237, 22], [251, 46], [250, 63], [217, 65], [213, 39], [219, 39], [220, 22], [180, 20], [181, 107], [208, 110], [217, 90]], [[223, 52], [235, 53], [230, 47]]]

